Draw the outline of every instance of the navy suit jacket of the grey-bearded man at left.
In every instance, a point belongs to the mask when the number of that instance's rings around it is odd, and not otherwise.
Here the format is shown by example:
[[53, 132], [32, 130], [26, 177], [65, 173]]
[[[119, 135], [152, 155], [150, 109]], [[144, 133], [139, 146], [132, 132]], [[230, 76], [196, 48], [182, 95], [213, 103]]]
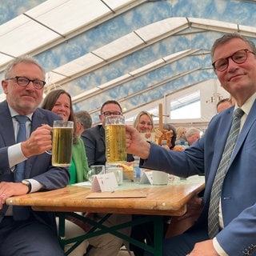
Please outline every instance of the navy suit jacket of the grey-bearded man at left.
[[[31, 131], [36, 130], [42, 124], [53, 125], [54, 120], [60, 119], [56, 114], [48, 110], [37, 109], [34, 111], [31, 122]], [[10, 110], [6, 101], [0, 103], [0, 182], [14, 182], [14, 173], [10, 170], [8, 162], [8, 146], [15, 144], [14, 125], [10, 116]], [[34, 178], [42, 183], [45, 190], [55, 190], [64, 187], [69, 182], [69, 172], [66, 168], [59, 168], [51, 165], [49, 154], [39, 154], [26, 160], [25, 178]], [[6, 206], [0, 210], [0, 221], [6, 211]], [[40, 221], [47, 224], [54, 224], [54, 215], [51, 213], [34, 212], [31, 214]]]

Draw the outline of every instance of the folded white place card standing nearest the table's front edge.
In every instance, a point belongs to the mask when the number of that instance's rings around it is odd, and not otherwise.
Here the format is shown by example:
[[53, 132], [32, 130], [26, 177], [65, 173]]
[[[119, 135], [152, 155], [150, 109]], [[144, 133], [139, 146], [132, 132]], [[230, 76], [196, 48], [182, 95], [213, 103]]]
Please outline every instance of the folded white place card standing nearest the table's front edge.
[[118, 186], [117, 179], [114, 173], [98, 174], [95, 175], [94, 181], [91, 185], [92, 192], [105, 192], [114, 191], [114, 188]]

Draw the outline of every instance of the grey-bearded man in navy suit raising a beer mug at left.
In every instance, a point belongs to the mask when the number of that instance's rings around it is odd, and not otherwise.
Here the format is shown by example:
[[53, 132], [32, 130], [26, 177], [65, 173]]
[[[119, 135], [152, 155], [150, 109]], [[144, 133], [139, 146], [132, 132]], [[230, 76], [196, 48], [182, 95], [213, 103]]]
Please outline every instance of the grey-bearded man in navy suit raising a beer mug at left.
[[[63, 256], [54, 214], [30, 207], [7, 206], [6, 198], [38, 190], [64, 187], [70, 176], [66, 168], [51, 165], [50, 130], [56, 114], [38, 108], [42, 102], [45, 71], [33, 58], [15, 59], [6, 68], [0, 103], [0, 255]], [[26, 116], [26, 141], [16, 142], [19, 123]], [[17, 179], [18, 164], [22, 180]], [[19, 168], [20, 169], [20, 168]]]

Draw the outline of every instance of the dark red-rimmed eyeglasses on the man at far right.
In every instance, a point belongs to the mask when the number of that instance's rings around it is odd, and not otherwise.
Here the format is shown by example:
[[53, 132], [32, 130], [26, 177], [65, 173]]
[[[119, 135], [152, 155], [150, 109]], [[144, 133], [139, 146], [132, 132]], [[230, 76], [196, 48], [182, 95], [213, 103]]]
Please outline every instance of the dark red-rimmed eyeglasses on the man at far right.
[[254, 54], [252, 51], [248, 49], [238, 50], [229, 57], [219, 58], [216, 62], [212, 63], [212, 66], [214, 66], [214, 70], [224, 71], [229, 66], [229, 58], [231, 58], [233, 62], [237, 64], [242, 64], [243, 62], [246, 62], [248, 53]]

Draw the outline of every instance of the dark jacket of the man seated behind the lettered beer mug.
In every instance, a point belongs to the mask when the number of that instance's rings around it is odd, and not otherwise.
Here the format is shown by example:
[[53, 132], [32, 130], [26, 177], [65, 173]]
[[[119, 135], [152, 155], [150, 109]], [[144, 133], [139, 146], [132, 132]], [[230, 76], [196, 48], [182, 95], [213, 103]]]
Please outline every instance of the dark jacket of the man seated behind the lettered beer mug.
[[[86, 146], [88, 166], [106, 164], [105, 129], [102, 125], [94, 126], [82, 132], [81, 138]], [[127, 161], [133, 162], [131, 154], [127, 154]]]

